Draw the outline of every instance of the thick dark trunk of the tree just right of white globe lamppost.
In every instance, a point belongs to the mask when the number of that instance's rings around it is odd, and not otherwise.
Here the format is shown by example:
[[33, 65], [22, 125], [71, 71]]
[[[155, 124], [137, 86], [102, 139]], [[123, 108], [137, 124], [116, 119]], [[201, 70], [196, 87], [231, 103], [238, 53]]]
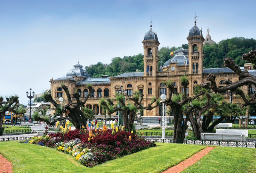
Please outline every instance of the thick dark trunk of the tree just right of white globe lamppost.
[[188, 125], [183, 119], [182, 106], [176, 104], [175, 106], [171, 106], [171, 108], [174, 118], [173, 142], [183, 143]]

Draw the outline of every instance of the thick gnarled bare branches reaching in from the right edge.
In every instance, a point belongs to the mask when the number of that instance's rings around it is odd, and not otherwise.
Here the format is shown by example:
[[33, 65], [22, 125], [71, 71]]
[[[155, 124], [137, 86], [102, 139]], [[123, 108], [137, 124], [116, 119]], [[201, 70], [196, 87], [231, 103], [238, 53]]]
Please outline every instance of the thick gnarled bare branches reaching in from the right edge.
[[[252, 50], [249, 53], [246, 53], [242, 56], [242, 59], [249, 61], [252, 63], [254, 69], [256, 69], [256, 50]], [[241, 86], [251, 86], [254, 91], [256, 91], [256, 76], [249, 74], [247, 67], [244, 67], [244, 71], [242, 71], [238, 65], [234, 63], [234, 61], [231, 60], [231, 58], [224, 58], [224, 66], [230, 68], [233, 70], [238, 76], [239, 80], [236, 82], [232, 82], [229, 79], [224, 80], [224, 84], [226, 86], [223, 86], [221, 88], [217, 87], [216, 84], [216, 76], [214, 74], [209, 74], [207, 76], [208, 81], [210, 82], [203, 82], [200, 84], [200, 86], [204, 88], [210, 88], [215, 93], [223, 93], [227, 92], [228, 90], [232, 91], [236, 95], [240, 95], [241, 98], [244, 101], [244, 104], [242, 106], [247, 105], [255, 105], [256, 104], [256, 92], [254, 92], [251, 99], [247, 99], [244, 92], [241, 90]]]

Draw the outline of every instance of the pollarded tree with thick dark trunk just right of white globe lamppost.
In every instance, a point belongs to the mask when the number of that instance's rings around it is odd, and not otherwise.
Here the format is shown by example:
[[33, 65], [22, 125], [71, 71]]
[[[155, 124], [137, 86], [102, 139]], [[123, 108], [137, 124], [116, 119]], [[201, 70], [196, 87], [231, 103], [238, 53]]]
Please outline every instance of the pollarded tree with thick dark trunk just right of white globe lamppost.
[[[195, 100], [197, 97], [203, 95], [205, 92], [200, 91], [198, 94], [196, 94], [194, 97], [188, 97], [187, 94], [187, 87], [188, 87], [188, 77], [182, 76], [180, 78], [181, 86], [184, 88], [184, 92], [182, 94], [179, 94], [174, 86], [173, 81], [168, 80], [164, 84], [169, 88], [169, 98], [164, 101], [165, 105], [168, 105], [172, 109], [172, 114], [174, 118], [174, 130], [173, 130], [173, 141], [175, 143], [183, 143], [183, 140], [185, 138], [185, 133], [188, 128], [188, 118], [190, 113], [194, 110], [194, 106], [191, 106], [189, 110], [187, 110], [186, 118], [184, 120], [183, 118], [183, 110], [185, 105], [188, 104], [188, 102], [191, 102]], [[173, 95], [174, 94], [174, 95]], [[172, 98], [173, 95], [173, 98]]]

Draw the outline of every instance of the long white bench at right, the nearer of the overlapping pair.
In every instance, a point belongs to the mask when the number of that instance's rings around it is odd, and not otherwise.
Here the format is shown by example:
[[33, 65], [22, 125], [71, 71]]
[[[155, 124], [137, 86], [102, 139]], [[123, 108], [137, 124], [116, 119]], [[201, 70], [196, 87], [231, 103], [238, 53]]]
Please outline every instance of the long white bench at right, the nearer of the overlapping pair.
[[244, 141], [244, 135], [221, 134], [221, 133], [201, 133], [202, 140], [237, 140]]

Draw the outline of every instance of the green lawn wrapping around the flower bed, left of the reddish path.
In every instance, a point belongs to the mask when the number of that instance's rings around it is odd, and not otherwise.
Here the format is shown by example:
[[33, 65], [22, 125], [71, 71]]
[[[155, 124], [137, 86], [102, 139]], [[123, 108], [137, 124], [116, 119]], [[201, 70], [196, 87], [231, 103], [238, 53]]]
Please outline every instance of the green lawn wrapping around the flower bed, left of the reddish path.
[[78, 163], [71, 155], [55, 149], [18, 143], [0, 142], [0, 154], [12, 162], [13, 172], [162, 172], [194, 153], [203, 149], [202, 145], [157, 143], [143, 151], [108, 161], [93, 168]]

